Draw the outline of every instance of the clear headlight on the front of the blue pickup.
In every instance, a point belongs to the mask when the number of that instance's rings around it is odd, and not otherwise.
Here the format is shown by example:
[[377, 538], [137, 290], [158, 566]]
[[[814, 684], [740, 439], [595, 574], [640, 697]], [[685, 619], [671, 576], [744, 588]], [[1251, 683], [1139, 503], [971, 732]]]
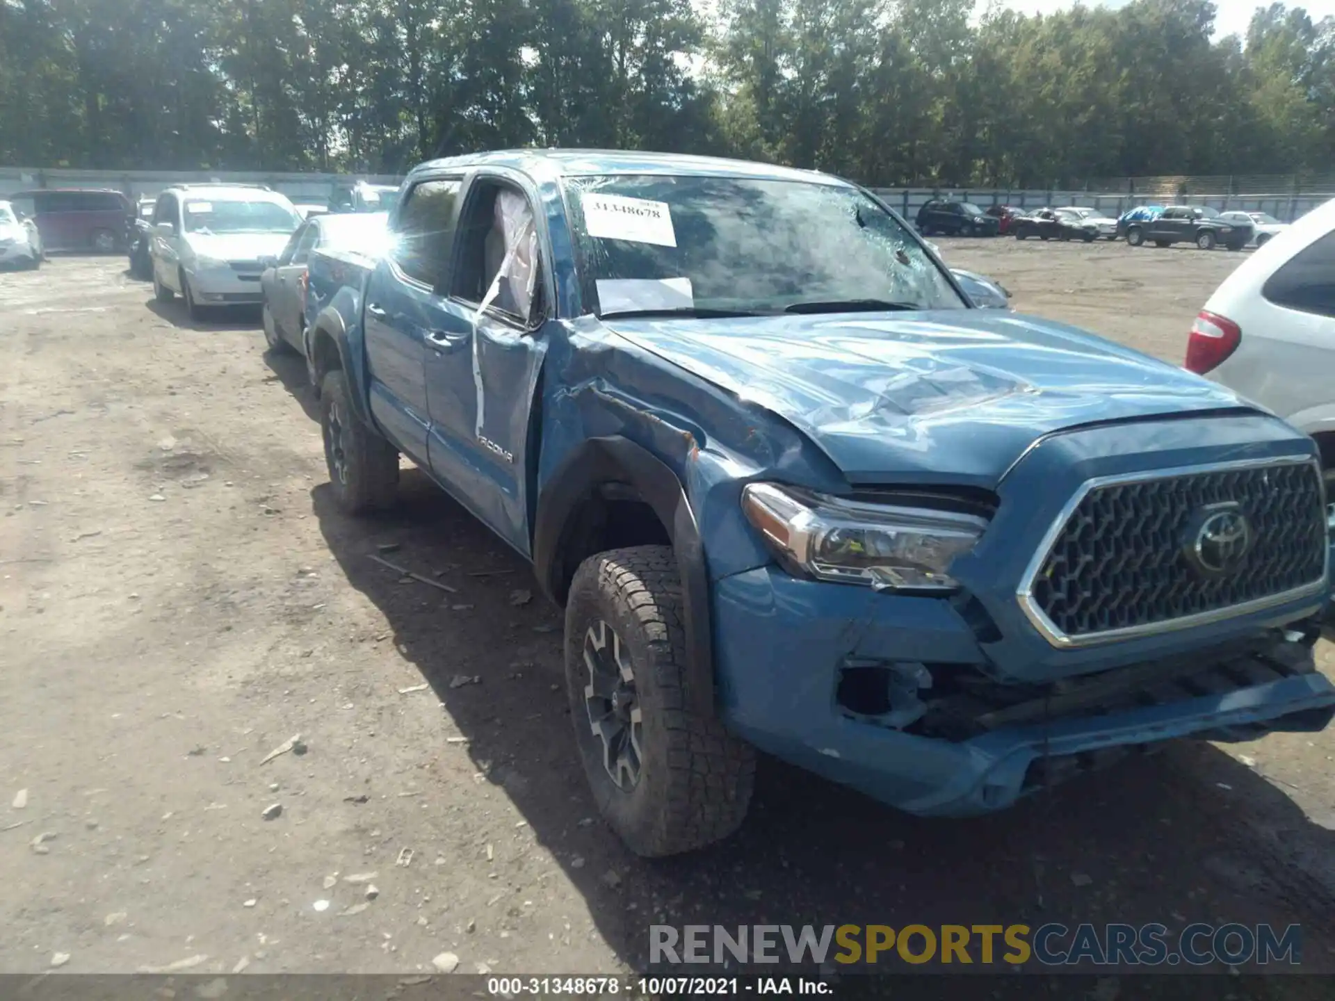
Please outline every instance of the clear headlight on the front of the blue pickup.
[[987, 519], [808, 494], [773, 483], [742, 490], [742, 511], [790, 573], [877, 590], [953, 591], [951, 563]]

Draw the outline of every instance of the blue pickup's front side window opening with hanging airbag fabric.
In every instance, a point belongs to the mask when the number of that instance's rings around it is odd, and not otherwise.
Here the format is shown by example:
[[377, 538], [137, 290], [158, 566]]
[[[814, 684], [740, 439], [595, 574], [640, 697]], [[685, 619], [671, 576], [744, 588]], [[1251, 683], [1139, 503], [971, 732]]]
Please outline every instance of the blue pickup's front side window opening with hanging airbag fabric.
[[481, 182], [465, 212], [453, 295], [529, 326], [541, 315], [538, 230], [529, 199], [509, 184]]

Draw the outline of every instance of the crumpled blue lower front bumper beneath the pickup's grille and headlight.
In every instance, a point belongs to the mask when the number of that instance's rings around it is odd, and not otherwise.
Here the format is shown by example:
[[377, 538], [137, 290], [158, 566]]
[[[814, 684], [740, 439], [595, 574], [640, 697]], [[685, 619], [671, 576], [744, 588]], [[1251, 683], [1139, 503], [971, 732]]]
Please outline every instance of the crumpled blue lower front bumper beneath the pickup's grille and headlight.
[[[724, 578], [714, 589], [728, 726], [761, 750], [914, 814], [999, 810], [1055, 777], [1103, 763], [1113, 749], [1188, 735], [1254, 739], [1271, 730], [1320, 730], [1335, 714], [1335, 686], [1315, 673], [1307, 645], [1295, 642], [1282, 642], [1284, 655], [1262, 657], [1256, 667], [1215, 670], [1204, 661], [1196, 669], [1179, 657], [1164, 678], [1152, 677], [1153, 661], [1093, 673], [1103, 683], [1117, 670], [1140, 670], [1148, 679], [1113, 683], [1105, 699], [1065, 715], [1025, 718], [1015, 703], [988, 713], [979, 693], [997, 687], [992, 666], [947, 601], [800, 581], [773, 566]], [[1254, 633], [1280, 625], [1248, 622]], [[977, 694], [975, 719], [983, 727], [943, 735], [951, 727], [932, 725], [932, 689], [901, 693], [898, 707], [892, 695], [882, 714], [846, 705], [841, 679], [849, 671], [884, 669], [898, 678], [905, 665], [910, 673], [925, 669], [933, 685], [967, 678], [973, 687], [961, 690], [964, 702]], [[1069, 683], [1056, 682], [1053, 698]], [[925, 706], [914, 707], [914, 699]]]

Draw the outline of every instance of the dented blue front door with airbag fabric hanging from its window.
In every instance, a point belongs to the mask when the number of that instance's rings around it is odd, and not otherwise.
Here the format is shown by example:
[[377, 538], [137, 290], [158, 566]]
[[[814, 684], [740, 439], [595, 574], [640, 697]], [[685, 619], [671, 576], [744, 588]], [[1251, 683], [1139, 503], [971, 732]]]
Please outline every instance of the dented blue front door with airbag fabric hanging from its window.
[[529, 418], [547, 348], [538, 247], [522, 188], [475, 175], [459, 216], [449, 295], [425, 344], [431, 472], [525, 555]]

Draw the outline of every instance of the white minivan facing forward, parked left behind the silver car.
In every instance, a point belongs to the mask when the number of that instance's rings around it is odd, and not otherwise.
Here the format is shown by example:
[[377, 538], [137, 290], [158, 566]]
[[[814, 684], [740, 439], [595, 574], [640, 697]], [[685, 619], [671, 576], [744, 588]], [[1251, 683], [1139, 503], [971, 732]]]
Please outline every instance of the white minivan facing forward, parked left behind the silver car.
[[268, 188], [180, 184], [158, 196], [150, 247], [154, 295], [202, 307], [259, 303], [262, 260], [283, 251], [302, 216]]

